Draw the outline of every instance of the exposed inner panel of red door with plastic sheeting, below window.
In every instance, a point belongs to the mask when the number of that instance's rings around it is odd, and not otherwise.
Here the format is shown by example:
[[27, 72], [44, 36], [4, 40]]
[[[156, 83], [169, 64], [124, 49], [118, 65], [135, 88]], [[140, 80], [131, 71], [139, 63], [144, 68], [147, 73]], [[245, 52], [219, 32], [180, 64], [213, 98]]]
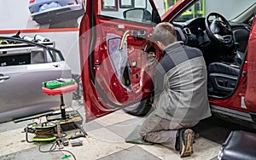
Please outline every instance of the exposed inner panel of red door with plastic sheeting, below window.
[[96, 44], [99, 47], [95, 49], [94, 70], [96, 81], [108, 99], [123, 106], [151, 94], [156, 59], [148, 54], [148, 49], [155, 52], [153, 45], [148, 45], [148, 27], [117, 21], [111, 24], [102, 21], [101, 30], [97, 30], [106, 36], [102, 37], [102, 43]]

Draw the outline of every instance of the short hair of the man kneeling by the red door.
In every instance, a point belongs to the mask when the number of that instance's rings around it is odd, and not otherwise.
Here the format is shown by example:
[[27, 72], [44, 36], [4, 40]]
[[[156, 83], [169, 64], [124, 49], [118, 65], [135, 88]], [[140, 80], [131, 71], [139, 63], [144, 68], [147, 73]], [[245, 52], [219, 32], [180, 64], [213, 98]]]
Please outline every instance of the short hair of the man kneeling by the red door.
[[168, 22], [161, 22], [155, 26], [152, 33], [154, 41], [159, 41], [165, 46], [177, 42], [177, 36], [174, 26]]

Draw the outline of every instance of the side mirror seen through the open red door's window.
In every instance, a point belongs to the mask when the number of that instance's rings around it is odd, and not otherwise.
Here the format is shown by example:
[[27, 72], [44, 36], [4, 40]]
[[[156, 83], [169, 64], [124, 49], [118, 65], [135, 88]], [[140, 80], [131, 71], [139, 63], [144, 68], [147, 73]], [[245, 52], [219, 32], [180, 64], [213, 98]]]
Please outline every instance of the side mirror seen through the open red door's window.
[[128, 9], [124, 13], [125, 20], [152, 22], [152, 14], [147, 9]]

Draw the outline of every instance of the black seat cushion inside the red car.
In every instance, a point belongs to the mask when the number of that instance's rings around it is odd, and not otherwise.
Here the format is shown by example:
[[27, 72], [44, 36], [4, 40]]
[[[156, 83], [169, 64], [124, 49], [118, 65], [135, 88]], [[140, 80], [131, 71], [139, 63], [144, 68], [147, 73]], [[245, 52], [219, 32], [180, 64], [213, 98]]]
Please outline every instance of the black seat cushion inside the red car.
[[220, 62], [208, 66], [208, 93], [227, 95], [232, 93], [238, 82], [239, 67]]

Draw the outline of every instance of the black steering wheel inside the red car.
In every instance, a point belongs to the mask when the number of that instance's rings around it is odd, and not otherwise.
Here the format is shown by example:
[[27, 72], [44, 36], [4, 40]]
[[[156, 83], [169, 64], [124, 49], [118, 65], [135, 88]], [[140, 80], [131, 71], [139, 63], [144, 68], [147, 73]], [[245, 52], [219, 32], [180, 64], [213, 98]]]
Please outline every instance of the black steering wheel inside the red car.
[[207, 28], [207, 34], [212, 40], [224, 45], [230, 45], [231, 43], [234, 43], [230, 23], [221, 14], [214, 12], [208, 14], [205, 20], [205, 24]]

